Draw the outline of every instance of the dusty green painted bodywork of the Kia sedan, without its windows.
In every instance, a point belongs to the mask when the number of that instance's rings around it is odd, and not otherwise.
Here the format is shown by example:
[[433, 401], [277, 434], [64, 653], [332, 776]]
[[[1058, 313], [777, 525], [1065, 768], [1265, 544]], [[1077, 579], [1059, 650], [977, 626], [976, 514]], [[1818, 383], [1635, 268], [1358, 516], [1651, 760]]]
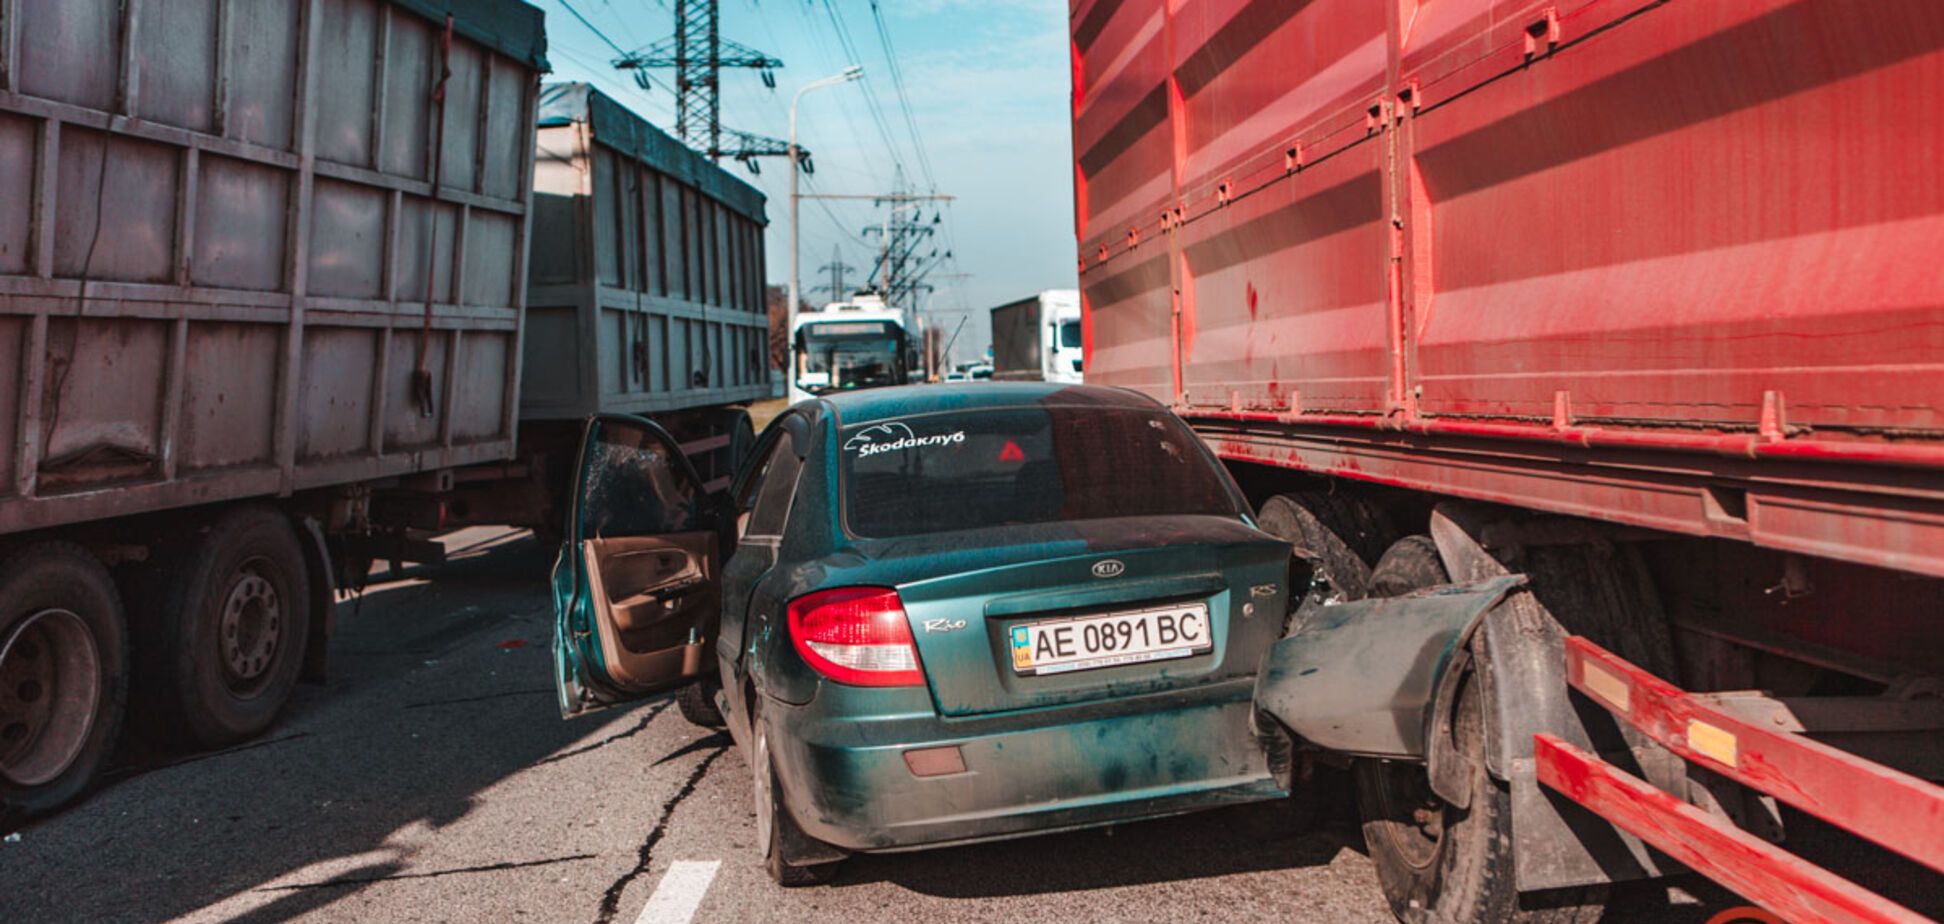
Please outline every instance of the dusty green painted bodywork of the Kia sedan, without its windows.
[[[741, 543], [721, 570], [719, 702], [731, 733], [748, 743], [760, 700], [783, 801], [811, 836], [844, 850], [908, 850], [1287, 796], [1256, 733], [1252, 694], [1258, 663], [1283, 632], [1289, 545], [1252, 525], [1240, 492], [1192, 436], [1232, 512], [851, 535], [840, 459], [848, 428], [1063, 401], [1166, 414], [1100, 387], [894, 387], [797, 405], [758, 440], [760, 461], [787, 438], [801, 475], [781, 535]], [[566, 551], [562, 572], [573, 560]], [[1108, 560], [1112, 568], [1096, 568]], [[585, 587], [570, 584], [556, 574], [556, 601], [570, 605], [562, 630], [585, 632], [572, 615]], [[923, 685], [853, 687], [805, 663], [785, 609], [830, 587], [896, 589]], [[1194, 603], [1207, 607], [1207, 652], [1048, 675], [1011, 665], [1015, 624]], [[918, 776], [906, 751], [933, 747], [955, 747], [964, 770]]]

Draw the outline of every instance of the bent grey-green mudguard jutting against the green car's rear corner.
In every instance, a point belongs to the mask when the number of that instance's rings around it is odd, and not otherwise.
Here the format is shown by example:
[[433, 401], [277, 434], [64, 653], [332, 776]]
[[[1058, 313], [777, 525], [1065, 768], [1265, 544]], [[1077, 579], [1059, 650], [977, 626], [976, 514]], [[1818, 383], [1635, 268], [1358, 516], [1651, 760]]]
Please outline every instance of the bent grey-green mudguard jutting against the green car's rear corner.
[[1450, 667], [1474, 626], [1524, 580], [1507, 574], [1320, 607], [1269, 646], [1256, 708], [1328, 751], [1425, 761]]

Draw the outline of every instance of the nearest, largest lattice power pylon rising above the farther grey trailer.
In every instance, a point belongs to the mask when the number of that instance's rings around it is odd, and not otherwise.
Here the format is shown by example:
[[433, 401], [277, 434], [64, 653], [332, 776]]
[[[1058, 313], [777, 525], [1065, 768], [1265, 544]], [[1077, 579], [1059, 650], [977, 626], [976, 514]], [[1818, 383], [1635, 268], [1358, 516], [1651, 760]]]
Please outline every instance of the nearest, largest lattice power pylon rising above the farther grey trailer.
[[[762, 134], [723, 128], [721, 70], [750, 68], [762, 76], [762, 86], [776, 88], [780, 58], [721, 37], [717, 0], [675, 0], [675, 35], [612, 60], [616, 70], [632, 70], [634, 82], [649, 89], [649, 68], [675, 70], [675, 134], [712, 160], [735, 158], [752, 173], [762, 173], [756, 158], [787, 158], [789, 144]], [[727, 138], [729, 144], [723, 144]], [[811, 152], [797, 148], [795, 158], [809, 171]]]

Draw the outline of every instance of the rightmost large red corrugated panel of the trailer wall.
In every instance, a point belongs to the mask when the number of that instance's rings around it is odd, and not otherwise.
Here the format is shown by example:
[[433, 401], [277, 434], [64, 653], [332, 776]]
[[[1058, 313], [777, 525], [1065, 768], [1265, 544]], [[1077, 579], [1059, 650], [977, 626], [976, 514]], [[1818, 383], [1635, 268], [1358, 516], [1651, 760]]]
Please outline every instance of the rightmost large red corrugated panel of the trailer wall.
[[1905, 95], [1940, 47], [1938, 4], [1670, 4], [1429, 99], [1421, 410], [1752, 426], [1781, 391], [1792, 424], [1944, 426], [1944, 286], [1907, 259], [1944, 181], [1903, 154], [1944, 144]]

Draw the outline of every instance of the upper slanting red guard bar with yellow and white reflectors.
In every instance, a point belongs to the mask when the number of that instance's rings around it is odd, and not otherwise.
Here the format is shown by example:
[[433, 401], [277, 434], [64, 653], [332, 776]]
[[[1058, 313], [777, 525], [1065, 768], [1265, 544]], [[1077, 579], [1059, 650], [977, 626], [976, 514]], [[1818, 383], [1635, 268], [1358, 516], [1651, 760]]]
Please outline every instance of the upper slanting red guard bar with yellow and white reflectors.
[[1944, 871], [1944, 786], [1742, 722], [1579, 636], [1567, 683], [1684, 759]]

